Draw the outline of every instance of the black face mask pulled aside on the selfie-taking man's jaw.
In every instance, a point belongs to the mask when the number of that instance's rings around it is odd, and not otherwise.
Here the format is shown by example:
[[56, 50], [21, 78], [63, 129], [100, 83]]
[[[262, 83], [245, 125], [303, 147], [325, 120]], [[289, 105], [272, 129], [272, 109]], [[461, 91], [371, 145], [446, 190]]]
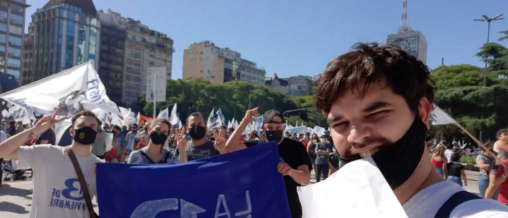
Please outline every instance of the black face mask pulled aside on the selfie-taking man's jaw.
[[[377, 168], [392, 190], [402, 185], [420, 163], [425, 150], [426, 134], [427, 127], [417, 116], [402, 138], [372, 155]], [[340, 159], [348, 163], [361, 159], [361, 157], [355, 155], [352, 158]]]

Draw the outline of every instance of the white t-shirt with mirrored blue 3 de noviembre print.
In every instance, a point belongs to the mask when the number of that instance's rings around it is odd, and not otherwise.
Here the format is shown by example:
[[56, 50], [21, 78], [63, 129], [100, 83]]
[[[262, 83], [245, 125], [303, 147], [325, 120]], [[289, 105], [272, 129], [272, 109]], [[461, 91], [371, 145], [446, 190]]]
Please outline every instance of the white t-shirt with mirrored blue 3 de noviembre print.
[[[78, 176], [63, 147], [43, 144], [21, 146], [17, 150], [16, 169], [33, 169], [34, 195], [30, 218], [89, 217]], [[90, 154], [76, 155], [88, 185], [90, 197], [97, 193], [94, 164], [101, 162]]]

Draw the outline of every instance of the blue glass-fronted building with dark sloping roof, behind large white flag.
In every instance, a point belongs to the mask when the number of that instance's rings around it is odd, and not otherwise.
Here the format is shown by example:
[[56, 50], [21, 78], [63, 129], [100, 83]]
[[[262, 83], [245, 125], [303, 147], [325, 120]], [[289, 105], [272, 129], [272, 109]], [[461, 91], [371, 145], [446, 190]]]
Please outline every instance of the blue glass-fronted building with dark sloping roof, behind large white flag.
[[101, 24], [91, 0], [50, 0], [31, 18], [25, 46], [32, 57], [23, 61], [31, 70], [25, 68], [24, 84], [87, 61], [98, 69]]

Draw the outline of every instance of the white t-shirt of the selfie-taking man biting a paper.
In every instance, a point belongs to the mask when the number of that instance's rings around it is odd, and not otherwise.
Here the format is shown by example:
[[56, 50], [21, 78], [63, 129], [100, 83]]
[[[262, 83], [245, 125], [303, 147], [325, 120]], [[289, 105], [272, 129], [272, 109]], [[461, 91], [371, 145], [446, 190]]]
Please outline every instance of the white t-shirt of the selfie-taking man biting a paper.
[[[460, 191], [464, 189], [457, 184], [441, 181], [418, 192], [402, 207], [409, 218], [434, 217], [444, 202]], [[475, 199], [459, 204], [450, 217], [508, 217], [508, 206], [492, 199]]]

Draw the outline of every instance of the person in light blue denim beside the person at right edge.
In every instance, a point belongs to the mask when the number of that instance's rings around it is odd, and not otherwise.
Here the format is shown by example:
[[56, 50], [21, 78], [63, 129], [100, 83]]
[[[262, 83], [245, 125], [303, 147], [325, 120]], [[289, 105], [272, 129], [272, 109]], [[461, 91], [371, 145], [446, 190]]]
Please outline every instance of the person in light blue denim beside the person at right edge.
[[[485, 144], [485, 147], [487, 147], [491, 152], [494, 152], [492, 142], [487, 142]], [[476, 163], [478, 165], [478, 168], [480, 168], [480, 173], [478, 175], [478, 191], [480, 197], [485, 197], [485, 191], [487, 190], [487, 187], [489, 187], [489, 173], [492, 170], [492, 167], [494, 166], [494, 158], [490, 156], [489, 153], [487, 153], [483, 147], [481, 147], [482, 153], [479, 154], [476, 158]], [[497, 197], [498, 194], [494, 193], [494, 196]]]

